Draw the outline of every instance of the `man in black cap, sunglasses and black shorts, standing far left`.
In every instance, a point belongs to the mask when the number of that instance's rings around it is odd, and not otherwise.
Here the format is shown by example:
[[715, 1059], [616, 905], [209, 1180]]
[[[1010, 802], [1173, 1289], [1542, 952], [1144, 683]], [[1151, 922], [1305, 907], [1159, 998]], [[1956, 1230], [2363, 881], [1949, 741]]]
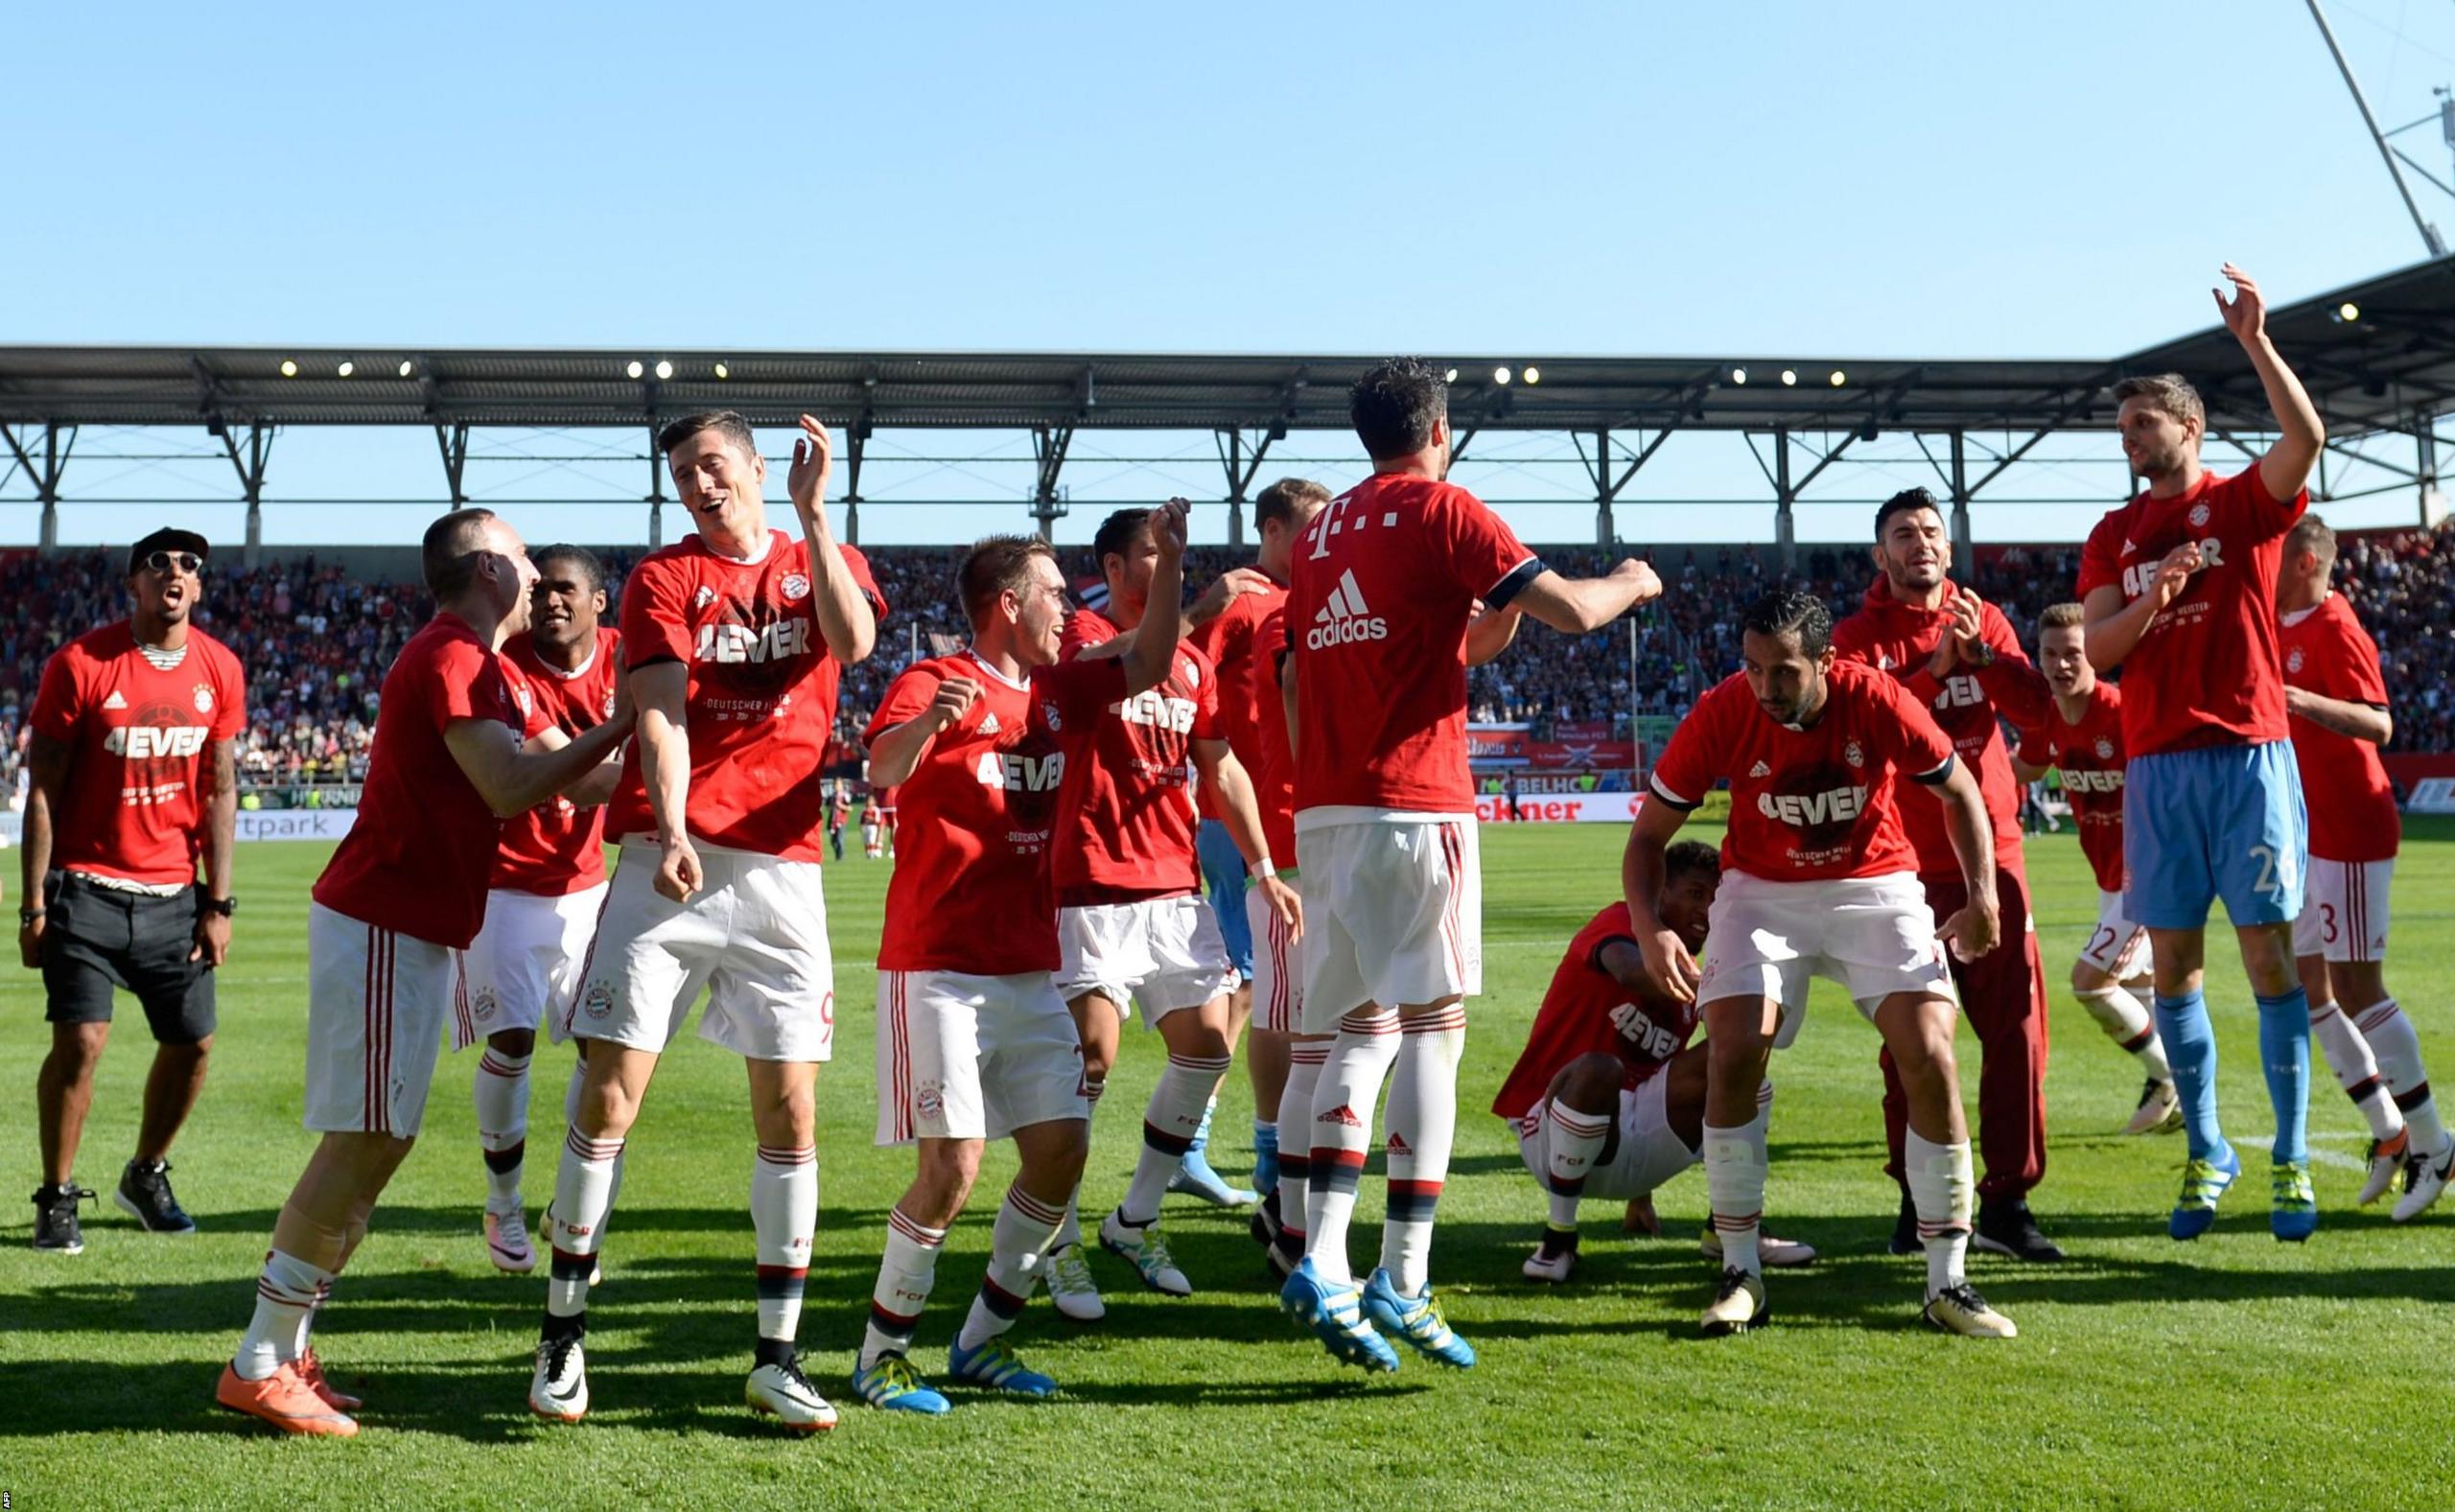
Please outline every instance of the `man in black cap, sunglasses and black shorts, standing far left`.
[[[135, 1159], [113, 1193], [147, 1232], [191, 1235], [169, 1190], [214, 1048], [214, 967], [231, 947], [231, 847], [248, 677], [191, 621], [206, 545], [155, 530], [128, 550], [128, 619], [61, 646], [27, 719], [17, 952], [42, 972], [52, 1053], [34, 1078], [42, 1188], [34, 1249], [76, 1254], [76, 1144], [110, 1038], [110, 992], [145, 1009], [155, 1063]], [[204, 884], [196, 862], [204, 862]]]

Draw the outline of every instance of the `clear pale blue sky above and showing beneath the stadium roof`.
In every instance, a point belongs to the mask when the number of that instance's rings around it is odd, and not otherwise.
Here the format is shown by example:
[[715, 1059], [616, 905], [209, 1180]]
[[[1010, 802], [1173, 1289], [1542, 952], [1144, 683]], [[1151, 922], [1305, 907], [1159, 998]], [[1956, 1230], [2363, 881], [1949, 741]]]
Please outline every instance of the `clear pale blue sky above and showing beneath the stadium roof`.
[[[2330, 15], [2389, 125], [2455, 81], [2448, 5]], [[2295, 299], [2421, 255], [2288, 0], [140, 5], [37, 7], [7, 47], [7, 341], [2099, 356], [2205, 326], [2227, 258]], [[2403, 140], [2445, 177], [2435, 130]], [[2455, 201], [2421, 194], [2455, 231]], [[1218, 496], [1205, 437], [1085, 442], [1078, 501]], [[103, 461], [204, 444], [93, 432], [69, 496], [228, 493], [218, 459]], [[953, 444], [881, 432], [879, 454]], [[1475, 486], [1576, 498], [1566, 449], [1529, 447]], [[1348, 452], [1291, 447], [1331, 481]], [[1183, 464], [1105, 461], [1159, 454]], [[2111, 439], [2055, 454], [2074, 466], [2030, 493], [2119, 486]], [[638, 535], [621, 501], [641, 469], [471, 476], [506, 501], [601, 496], [530, 535], [611, 540]], [[881, 503], [872, 538], [1011, 525], [1026, 486], [1019, 466], [921, 464], [881, 484], [1016, 503]], [[292, 432], [273, 464], [275, 501], [437, 491], [420, 434]], [[1760, 493], [1709, 442], [1672, 442], [1633, 488]], [[1630, 538], [1642, 511], [1623, 508]], [[88, 506], [69, 530], [125, 538], [160, 513]], [[2087, 513], [2006, 511], [1996, 533]], [[290, 540], [415, 515], [270, 511]], [[1522, 528], [1576, 538], [1588, 518], [1525, 506]], [[1809, 511], [1802, 535], [1856, 535], [1856, 508], [1831, 518]], [[0, 535], [29, 533], [29, 508], [0, 508]]]

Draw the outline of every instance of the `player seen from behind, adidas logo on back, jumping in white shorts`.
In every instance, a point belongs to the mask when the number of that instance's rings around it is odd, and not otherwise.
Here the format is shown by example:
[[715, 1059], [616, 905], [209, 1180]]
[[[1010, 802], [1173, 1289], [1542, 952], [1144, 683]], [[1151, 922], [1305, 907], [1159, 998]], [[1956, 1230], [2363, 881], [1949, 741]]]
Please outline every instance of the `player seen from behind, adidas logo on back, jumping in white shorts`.
[[[1500, 515], [1446, 481], [1439, 368], [1375, 366], [1355, 380], [1348, 417], [1372, 476], [1304, 528], [1286, 592], [1282, 690], [1294, 700], [1296, 859], [1313, 911], [1304, 1031], [1338, 1038], [1311, 1100], [1306, 1254], [1279, 1301], [1336, 1360], [1394, 1370], [1380, 1325], [1434, 1362], [1468, 1367], [1473, 1348], [1431, 1298], [1466, 999], [1483, 992], [1468, 626], [1490, 606], [1502, 641], [1520, 614], [1583, 636], [1662, 584], [1635, 560], [1596, 579], [1547, 572]], [[1390, 1210], [1380, 1269], [1358, 1286], [1348, 1220], [1382, 1080]]]

